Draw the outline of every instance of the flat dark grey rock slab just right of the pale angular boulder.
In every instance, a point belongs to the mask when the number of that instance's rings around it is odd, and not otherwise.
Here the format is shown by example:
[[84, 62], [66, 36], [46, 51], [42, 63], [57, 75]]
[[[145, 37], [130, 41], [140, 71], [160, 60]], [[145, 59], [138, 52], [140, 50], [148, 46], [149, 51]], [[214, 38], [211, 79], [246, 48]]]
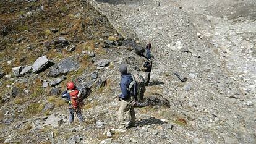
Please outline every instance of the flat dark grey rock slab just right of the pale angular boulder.
[[58, 64], [51, 67], [49, 76], [58, 77], [59, 75], [66, 75], [70, 71], [77, 70], [79, 68], [79, 63], [73, 59], [63, 59]]

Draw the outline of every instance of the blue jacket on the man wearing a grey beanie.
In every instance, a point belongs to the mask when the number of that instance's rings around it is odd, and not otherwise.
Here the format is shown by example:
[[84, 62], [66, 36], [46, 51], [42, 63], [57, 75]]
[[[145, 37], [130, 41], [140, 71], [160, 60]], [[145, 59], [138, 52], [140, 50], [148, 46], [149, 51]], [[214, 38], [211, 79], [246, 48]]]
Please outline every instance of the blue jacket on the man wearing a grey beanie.
[[132, 82], [132, 75], [130, 74], [122, 75], [122, 79], [120, 82], [120, 88], [122, 93], [119, 95], [119, 98], [122, 98], [122, 99], [130, 98], [131, 96], [130, 91], [127, 90], [129, 88], [130, 82]]

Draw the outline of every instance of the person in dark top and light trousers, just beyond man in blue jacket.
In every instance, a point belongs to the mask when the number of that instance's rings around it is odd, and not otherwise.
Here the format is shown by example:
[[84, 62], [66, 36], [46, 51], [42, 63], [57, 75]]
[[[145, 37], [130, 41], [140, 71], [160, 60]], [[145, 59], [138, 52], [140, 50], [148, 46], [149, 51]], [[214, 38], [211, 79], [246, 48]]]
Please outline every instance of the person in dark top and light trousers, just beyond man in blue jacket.
[[150, 72], [152, 70], [151, 54], [147, 54], [147, 61], [143, 65], [143, 71], [145, 72], [145, 85], [147, 86], [150, 82]]

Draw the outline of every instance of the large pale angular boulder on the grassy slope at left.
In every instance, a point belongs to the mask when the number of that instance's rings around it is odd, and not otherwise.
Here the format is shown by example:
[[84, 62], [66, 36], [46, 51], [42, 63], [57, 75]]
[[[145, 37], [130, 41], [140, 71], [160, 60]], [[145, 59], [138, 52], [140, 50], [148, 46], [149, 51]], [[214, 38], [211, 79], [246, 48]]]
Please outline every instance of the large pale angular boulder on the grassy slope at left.
[[38, 73], [42, 70], [45, 70], [45, 68], [49, 65], [50, 61], [47, 59], [46, 56], [41, 56], [32, 65], [33, 72]]

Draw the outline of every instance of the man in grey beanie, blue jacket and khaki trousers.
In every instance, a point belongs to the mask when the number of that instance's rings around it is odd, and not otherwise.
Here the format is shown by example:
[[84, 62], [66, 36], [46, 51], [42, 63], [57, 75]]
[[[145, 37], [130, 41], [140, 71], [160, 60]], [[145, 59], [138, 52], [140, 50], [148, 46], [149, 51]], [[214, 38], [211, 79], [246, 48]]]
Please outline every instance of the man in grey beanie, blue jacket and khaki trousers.
[[[135, 98], [132, 95], [133, 91], [129, 91], [129, 85], [133, 81], [133, 78], [132, 75], [127, 73], [127, 66], [125, 64], [121, 64], [119, 72], [122, 74], [120, 82], [122, 93], [119, 95], [121, 105], [118, 111], [119, 129], [117, 129], [116, 132], [126, 132], [126, 116], [128, 113], [131, 118], [128, 126], [136, 126], [135, 111], [134, 106], [132, 106], [132, 103], [135, 103]], [[132, 88], [132, 90], [133, 89], [134, 88]]]

